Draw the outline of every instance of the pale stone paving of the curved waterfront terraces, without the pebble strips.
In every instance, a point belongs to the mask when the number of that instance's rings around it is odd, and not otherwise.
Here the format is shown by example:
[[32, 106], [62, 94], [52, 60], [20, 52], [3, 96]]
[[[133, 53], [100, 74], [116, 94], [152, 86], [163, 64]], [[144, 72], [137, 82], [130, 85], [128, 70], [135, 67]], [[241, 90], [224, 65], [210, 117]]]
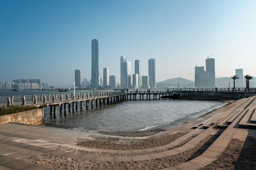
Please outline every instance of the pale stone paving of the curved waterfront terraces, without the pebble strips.
[[[254, 116], [256, 97], [237, 100], [230, 105], [211, 111], [198, 118], [188, 120], [184, 124], [170, 127], [155, 135], [146, 137], [123, 137], [104, 135], [99, 130], [85, 129], [83, 127], [53, 126], [53, 125], [28, 125], [18, 123], [0, 124], [0, 169], [49, 169], [31, 163], [31, 156], [38, 157], [45, 153], [63, 157], [76, 158], [90, 161], [143, 161], [170, 157], [194, 148], [208, 135], [220, 134], [220, 136], [202, 153], [202, 155], [185, 163], [167, 169], [200, 169], [216, 160], [225, 150], [232, 138], [245, 140], [247, 136], [256, 138], [256, 129], [240, 127], [240, 123], [248, 121]], [[247, 111], [248, 110], [248, 111]], [[250, 112], [249, 112], [250, 110]], [[239, 113], [238, 113], [239, 112]], [[248, 114], [247, 114], [248, 113]], [[229, 124], [231, 118], [232, 122]], [[219, 124], [225, 124], [225, 130], [220, 132]], [[195, 128], [195, 129], [194, 129]], [[98, 137], [118, 137], [119, 139], [148, 139], [173, 135], [177, 132], [187, 132], [175, 141], [158, 147], [140, 150], [106, 150], [78, 146], [78, 138], [94, 140], [91, 135]], [[100, 153], [143, 153], [137, 156], [96, 156], [87, 154], [70, 153], [55, 150], [57, 146], [65, 146], [79, 150]], [[151, 153], [158, 151], [157, 153]]]

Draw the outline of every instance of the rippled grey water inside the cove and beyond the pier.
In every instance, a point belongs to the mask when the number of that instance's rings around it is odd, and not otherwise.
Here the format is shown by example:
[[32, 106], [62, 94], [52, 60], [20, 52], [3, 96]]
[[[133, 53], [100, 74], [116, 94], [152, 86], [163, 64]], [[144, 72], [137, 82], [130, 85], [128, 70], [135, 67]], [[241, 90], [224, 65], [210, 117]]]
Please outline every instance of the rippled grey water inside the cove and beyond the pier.
[[[21, 96], [32, 94], [58, 94], [58, 91], [37, 91], [23, 90], [19, 92], [10, 91], [5, 96]], [[76, 91], [87, 92], [87, 91]], [[1, 94], [2, 93], [2, 94]], [[72, 91], [68, 92], [72, 93]], [[0, 91], [0, 96], [4, 92]], [[6, 92], [5, 92], [6, 94]], [[139, 98], [139, 96], [137, 96]], [[84, 102], [85, 103], [85, 102]], [[159, 126], [174, 122], [188, 116], [200, 116], [202, 111], [222, 105], [218, 101], [197, 101], [197, 100], [126, 100], [116, 102], [112, 105], [103, 105], [94, 109], [83, 111], [72, 111], [64, 116], [57, 113], [57, 118], [49, 114], [49, 107], [45, 108], [45, 123], [81, 126], [95, 129], [108, 129], [115, 131], [136, 131], [144, 130], [153, 126]], [[79, 106], [80, 108], [80, 106]], [[72, 109], [71, 109], [72, 110]]]

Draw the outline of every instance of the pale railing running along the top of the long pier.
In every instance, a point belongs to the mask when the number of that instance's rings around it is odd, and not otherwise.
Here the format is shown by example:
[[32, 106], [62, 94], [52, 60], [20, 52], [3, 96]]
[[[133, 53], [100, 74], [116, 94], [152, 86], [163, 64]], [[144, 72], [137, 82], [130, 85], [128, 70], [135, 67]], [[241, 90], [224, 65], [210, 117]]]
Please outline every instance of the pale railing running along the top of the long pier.
[[[63, 102], [63, 101], [74, 101], [74, 100], [91, 100], [99, 97], [110, 97], [117, 95], [137, 95], [137, 94], [172, 94], [179, 93], [181, 91], [217, 91], [217, 92], [229, 92], [227, 88], [219, 89], [166, 89], [166, 90], [120, 90], [111, 92], [87, 92], [87, 93], [76, 93], [76, 94], [48, 94], [48, 95], [28, 95], [28, 96], [0, 96], [0, 107], [9, 107], [11, 105], [40, 105], [44, 103], [52, 102]], [[235, 90], [235, 92], [241, 92], [242, 90]], [[247, 91], [244, 91], [247, 92]]]

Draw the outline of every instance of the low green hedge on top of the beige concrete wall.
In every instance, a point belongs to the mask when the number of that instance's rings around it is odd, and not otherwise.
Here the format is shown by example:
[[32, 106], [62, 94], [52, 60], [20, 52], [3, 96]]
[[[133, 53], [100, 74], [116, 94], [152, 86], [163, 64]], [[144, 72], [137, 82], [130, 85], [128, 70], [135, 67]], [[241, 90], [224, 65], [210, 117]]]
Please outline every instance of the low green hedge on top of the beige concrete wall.
[[28, 111], [28, 110], [33, 110], [37, 109], [38, 107], [36, 106], [10, 106], [10, 107], [0, 107], [0, 116], [3, 115], [9, 115], [13, 113], [19, 113], [22, 111]]

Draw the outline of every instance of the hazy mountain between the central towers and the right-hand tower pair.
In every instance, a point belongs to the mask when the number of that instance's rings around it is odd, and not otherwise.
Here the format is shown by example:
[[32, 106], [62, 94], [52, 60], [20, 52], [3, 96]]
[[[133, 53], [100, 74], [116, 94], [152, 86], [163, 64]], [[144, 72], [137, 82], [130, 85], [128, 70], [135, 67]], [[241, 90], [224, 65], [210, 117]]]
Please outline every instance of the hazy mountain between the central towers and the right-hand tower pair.
[[157, 82], [157, 88], [170, 88], [170, 87], [178, 87], [178, 83], [179, 83], [179, 87], [191, 87], [194, 88], [195, 87], [195, 82], [191, 81], [191, 80], [187, 80], [185, 78], [172, 78], [172, 79], [167, 79], [164, 81], [160, 81]]

